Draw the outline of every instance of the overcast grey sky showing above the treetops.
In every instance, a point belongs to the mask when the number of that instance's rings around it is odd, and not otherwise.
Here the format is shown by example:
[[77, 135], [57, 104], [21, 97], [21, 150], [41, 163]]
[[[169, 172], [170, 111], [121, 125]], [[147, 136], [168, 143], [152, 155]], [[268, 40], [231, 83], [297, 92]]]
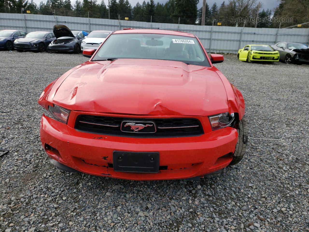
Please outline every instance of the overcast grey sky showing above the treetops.
[[[38, 5], [39, 3], [43, 1], [46, 2], [46, 0], [34, 0], [34, 2], [36, 2]], [[76, 0], [71, 0], [72, 5], [74, 5]], [[129, 0], [129, 2], [131, 3], [132, 7], [136, 5], [137, 2], [142, 3], [144, 0]], [[145, 0], [146, 2], [148, 0]], [[277, 0], [259, 0], [260, 2], [263, 3], [263, 7], [265, 10], [266, 9], [271, 9], [273, 11], [274, 8], [276, 8], [276, 6], [279, 4], [279, 1]], [[30, 2], [30, 1], [29, 1]], [[83, 0], [81, 0], [81, 2], [83, 2]], [[97, 0], [97, 2], [101, 2], [101, 0]], [[108, 5], [108, 0], [104, 0], [105, 4]], [[160, 3], [165, 3], [167, 2], [167, 0], [155, 0], [155, 3], [160, 2]], [[217, 6], [219, 7], [223, 0], [206, 0], [207, 4], [211, 7], [214, 2], [217, 3]], [[228, 0], [225, 1], [225, 3], [229, 2]], [[199, 3], [197, 4], [197, 8], [201, 8], [203, 4], [203, 0], [200, 0]]]

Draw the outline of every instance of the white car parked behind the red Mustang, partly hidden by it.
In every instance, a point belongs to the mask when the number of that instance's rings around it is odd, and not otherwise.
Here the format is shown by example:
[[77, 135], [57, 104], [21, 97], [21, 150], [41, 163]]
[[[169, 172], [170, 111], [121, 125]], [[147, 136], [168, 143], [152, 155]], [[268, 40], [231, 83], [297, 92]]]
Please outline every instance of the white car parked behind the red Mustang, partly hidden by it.
[[82, 41], [81, 47], [84, 49], [98, 49], [99, 45], [108, 37], [112, 31], [92, 31]]

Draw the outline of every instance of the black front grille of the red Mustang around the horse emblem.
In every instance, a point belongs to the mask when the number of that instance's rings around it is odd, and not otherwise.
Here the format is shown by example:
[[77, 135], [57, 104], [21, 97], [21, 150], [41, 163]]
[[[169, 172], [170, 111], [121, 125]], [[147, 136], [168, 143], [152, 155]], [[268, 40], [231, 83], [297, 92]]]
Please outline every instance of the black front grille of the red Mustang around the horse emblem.
[[[154, 122], [156, 131], [154, 133], [143, 133], [150, 131], [150, 129], [152, 132], [152, 126], [145, 127], [145, 129], [137, 132], [133, 132], [133, 130], [127, 132], [130, 127], [121, 131], [123, 121], [145, 122], [143, 124]], [[123, 126], [125, 123], [123, 123]], [[199, 136], [204, 133], [201, 122], [196, 118], [121, 118], [79, 115], [75, 122], [75, 129], [93, 134], [143, 138]]]

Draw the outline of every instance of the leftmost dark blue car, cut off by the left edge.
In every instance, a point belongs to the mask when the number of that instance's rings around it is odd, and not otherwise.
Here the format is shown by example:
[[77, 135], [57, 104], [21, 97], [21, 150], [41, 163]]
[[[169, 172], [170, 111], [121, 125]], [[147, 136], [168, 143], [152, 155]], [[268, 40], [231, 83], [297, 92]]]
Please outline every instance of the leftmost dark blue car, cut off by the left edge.
[[1, 30], [0, 31], [0, 49], [13, 50], [15, 39], [23, 38], [27, 35], [24, 31]]

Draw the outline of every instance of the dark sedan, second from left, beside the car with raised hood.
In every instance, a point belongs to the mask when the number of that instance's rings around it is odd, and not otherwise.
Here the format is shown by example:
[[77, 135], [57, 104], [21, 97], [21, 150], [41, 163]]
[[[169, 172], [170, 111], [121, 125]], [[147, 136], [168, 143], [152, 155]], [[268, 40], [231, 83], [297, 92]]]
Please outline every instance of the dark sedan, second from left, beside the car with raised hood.
[[25, 38], [14, 41], [14, 48], [19, 52], [23, 50], [44, 52], [54, 39], [56, 37], [53, 32], [29, 32]]

